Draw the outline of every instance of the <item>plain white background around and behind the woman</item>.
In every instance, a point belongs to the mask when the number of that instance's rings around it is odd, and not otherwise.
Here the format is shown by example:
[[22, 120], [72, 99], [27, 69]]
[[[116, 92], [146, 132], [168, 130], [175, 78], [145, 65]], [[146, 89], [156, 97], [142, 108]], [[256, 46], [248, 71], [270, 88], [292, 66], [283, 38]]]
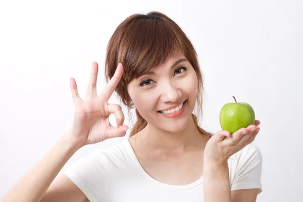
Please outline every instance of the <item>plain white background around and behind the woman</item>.
[[[0, 198], [71, 126], [69, 78], [84, 98], [96, 61], [100, 93], [111, 35], [129, 15], [149, 11], [172, 18], [196, 48], [205, 77], [203, 128], [221, 130], [220, 109], [232, 96], [250, 104], [261, 120], [255, 143], [263, 154], [263, 192], [257, 201], [302, 201], [299, 0], [1, 1]], [[118, 103], [115, 96], [110, 102]], [[81, 148], [63, 170], [123, 138]]]

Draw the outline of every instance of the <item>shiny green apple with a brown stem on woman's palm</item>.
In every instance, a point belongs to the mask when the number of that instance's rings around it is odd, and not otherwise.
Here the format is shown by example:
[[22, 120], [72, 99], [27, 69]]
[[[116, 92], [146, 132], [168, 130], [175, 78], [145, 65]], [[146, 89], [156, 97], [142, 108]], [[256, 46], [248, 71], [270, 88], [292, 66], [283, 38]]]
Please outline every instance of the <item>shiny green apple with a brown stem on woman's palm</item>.
[[220, 125], [222, 130], [227, 130], [230, 134], [240, 128], [247, 128], [249, 125], [255, 125], [255, 112], [247, 103], [225, 104], [220, 112]]

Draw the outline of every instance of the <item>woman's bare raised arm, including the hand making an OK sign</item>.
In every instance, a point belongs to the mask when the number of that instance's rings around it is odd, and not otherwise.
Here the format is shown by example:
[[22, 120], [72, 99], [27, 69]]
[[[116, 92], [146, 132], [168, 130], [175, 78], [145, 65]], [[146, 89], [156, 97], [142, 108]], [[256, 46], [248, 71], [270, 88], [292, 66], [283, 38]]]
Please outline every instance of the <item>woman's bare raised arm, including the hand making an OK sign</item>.
[[[93, 63], [85, 101], [79, 96], [75, 79], [70, 78], [75, 106], [72, 127], [45, 157], [7, 193], [2, 202], [41, 201], [42, 197], [42, 201], [54, 201], [55, 199], [55, 201], [58, 199], [61, 201], [83, 201], [87, 198], [65, 175], [62, 175], [58, 182], [50, 187], [45, 196], [43, 195], [59, 171], [79, 148], [109, 138], [122, 137], [126, 134], [128, 126], [123, 125], [124, 114], [121, 106], [108, 104], [122, 73], [123, 66], [119, 63], [106, 88], [97, 96], [98, 64]], [[111, 114], [115, 115], [118, 127], [113, 127], [110, 124], [109, 116]]]

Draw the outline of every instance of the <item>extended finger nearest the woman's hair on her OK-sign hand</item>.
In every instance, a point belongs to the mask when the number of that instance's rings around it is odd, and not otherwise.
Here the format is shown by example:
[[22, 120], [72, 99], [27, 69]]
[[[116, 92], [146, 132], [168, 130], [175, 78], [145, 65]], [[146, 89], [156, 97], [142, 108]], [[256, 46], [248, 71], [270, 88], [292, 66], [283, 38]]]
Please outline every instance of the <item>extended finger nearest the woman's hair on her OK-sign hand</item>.
[[100, 94], [100, 98], [102, 98], [103, 100], [105, 100], [105, 102], [108, 102], [108, 100], [110, 99], [111, 95], [113, 94], [113, 92], [115, 91], [121, 76], [123, 73], [123, 66], [121, 63], [119, 63], [114, 76], [112, 77], [112, 79], [109, 81], [109, 83], [106, 85], [105, 89], [103, 90], [103, 92]]

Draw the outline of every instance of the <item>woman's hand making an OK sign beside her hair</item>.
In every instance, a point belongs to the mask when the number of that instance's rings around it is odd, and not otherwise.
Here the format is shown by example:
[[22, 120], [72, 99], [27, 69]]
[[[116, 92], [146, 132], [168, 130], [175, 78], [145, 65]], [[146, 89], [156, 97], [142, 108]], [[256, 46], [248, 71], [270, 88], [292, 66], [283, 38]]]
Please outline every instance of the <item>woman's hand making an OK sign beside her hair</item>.
[[[83, 101], [78, 94], [74, 78], [70, 78], [75, 114], [73, 125], [67, 133], [74, 146], [82, 147], [94, 144], [112, 137], [122, 137], [126, 134], [128, 126], [123, 125], [124, 114], [121, 106], [108, 104], [108, 100], [118, 85], [123, 73], [123, 66], [119, 63], [113, 78], [106, 85], [99, 96], [96, 95], [96, 81], [98, 64], [93, 63], [90, 81], [87, 87], [86, 99]], [[114, 114], [117, 127], [109, 122], [110, 114]]]

